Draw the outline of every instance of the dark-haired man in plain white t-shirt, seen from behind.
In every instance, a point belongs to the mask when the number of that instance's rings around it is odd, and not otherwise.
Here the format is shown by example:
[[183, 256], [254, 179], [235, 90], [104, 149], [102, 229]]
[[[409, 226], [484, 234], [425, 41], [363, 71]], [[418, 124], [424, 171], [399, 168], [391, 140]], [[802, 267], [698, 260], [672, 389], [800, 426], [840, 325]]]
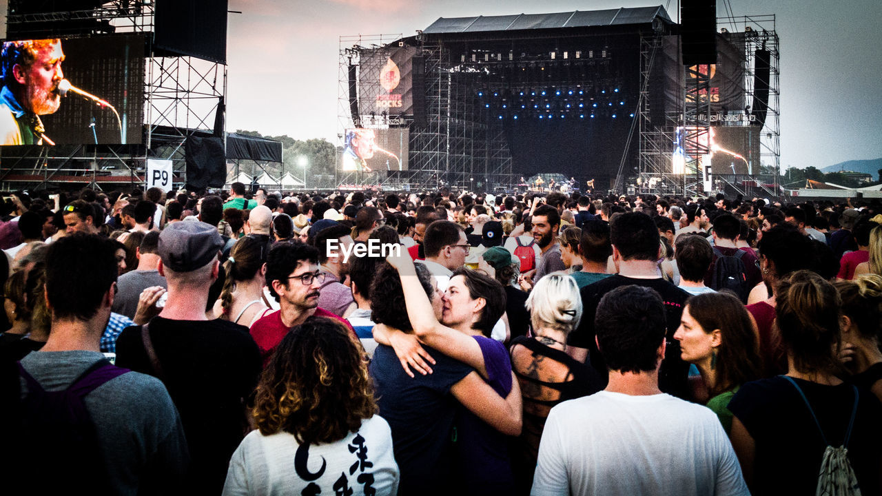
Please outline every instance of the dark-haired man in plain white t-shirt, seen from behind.
[[654, 289], [602, 298], [594, 327], [609, 385], [551, 409], [531, 494], [750, 494], [714, 412], [659, 390], [664, 312]]

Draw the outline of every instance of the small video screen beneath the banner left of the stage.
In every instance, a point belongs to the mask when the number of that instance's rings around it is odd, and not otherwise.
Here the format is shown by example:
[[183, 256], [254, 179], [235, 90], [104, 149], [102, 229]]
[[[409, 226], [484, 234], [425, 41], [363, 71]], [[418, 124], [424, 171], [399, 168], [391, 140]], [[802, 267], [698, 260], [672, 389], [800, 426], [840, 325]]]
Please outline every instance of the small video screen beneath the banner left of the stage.
[[356, 172], [407, 170], [407, 139], [404, 128], [346, 130], [340, 169]]

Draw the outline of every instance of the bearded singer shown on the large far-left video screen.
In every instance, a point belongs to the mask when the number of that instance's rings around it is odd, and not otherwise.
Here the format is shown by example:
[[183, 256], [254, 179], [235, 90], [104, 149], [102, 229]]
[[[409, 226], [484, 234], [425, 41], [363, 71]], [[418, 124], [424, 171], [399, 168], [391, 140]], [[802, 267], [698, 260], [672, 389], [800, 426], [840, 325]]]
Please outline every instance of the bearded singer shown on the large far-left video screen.
[[61, 105], [58, 83], [64, 79], [61, 41], [7, 41], [0, 53], [0, 145], [54, 145], [40, 116]]

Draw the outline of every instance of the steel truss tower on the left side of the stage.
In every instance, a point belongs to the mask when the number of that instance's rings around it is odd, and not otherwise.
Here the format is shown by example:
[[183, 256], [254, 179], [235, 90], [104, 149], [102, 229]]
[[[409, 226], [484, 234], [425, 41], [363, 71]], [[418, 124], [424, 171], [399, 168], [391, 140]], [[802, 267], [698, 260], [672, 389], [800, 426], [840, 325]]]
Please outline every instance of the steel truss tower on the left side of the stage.
[[[356, 123], [365, 128], [407, 127], [410, 129], [408, 170], [401, 172], [338, 172], [335, 184], [343, 188], [380, 186], [398, 190], [437, 189], [447, 184], [475, 190], [492, 184], [512, 184], [512, 156], [505, 141], [502, 122], [482, 119], [475, 94], [482, 83], [478, 74], [463, 64], [452, 64], [444, 47], [415, 41], [417, 55], [425, 59], [426, 124], [415, 124], [413, 116], [363, 115], [350, 101], [352, 76], [377, 64], [383, 57], [362, 57], [364, 50], [384, 49], [401, 40], [400, 34], [340, 37], [340, 79], [338, 138], [343, 145], [345, 131]], [[357, 100], [372, 99], [379, 92], [375, 84], [357, 85]], [[340, 168], [338, 167], [338, 170]]]

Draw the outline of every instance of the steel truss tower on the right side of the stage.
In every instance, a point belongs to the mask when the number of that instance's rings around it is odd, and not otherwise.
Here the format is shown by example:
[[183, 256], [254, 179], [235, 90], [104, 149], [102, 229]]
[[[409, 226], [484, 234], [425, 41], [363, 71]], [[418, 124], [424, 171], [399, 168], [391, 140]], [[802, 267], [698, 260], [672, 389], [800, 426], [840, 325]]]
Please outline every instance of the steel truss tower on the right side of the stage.
[[[777, 172], [781, 157], [781, 86], [780, 40], [775, 31], [775, 16], [718, 18], [717, 26], [744, 41], [744, 101], [754, 106], [754, 96], [768, 88], [765, 122], [759, 131], [759, 170], [749, 174], [716, 174], [706, 157], [713, 152], [711, 109], [708, 94], [708, 71], [685, 68], [684, 88], [676, 105], [667, 112], [663, 123], [650, 119], [652, 99], [641, 94], [639, 109], [639, 177], [633, 178], [635, 192], [694, 195], [699, 192], [725, 191], [744, 196], [777, 197], [780, 190]], [[661, 50], [661, 40], [644, 37], [640, 42], [641, 87], [650, 77], [652, 57]], [[769, 52], [769, 75], [758, 71], [758, 50]], [[759, 86], [759, 87], [758, 87]], [[753, 109], [756, 113], [758, 109]], [[747, 112], [745, 111], [745, 114]], [[679, 132], [678, 132], [679, 131]], [[677, 150], [682, 154], [676, 155]], [[682, 162], [675, 157], [679, 156]], [[709, 161], [708, 161], [709, 162]], [[710, 185], [711, 191], [704, 191]]]

